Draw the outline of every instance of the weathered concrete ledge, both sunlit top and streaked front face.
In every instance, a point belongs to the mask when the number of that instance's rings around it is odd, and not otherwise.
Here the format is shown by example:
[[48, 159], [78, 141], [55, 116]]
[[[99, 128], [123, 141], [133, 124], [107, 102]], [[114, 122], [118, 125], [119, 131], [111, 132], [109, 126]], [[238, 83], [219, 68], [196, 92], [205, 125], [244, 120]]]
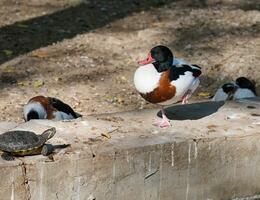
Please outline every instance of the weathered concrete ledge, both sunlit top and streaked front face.
[[[40, 133], [55, 126], [50, 142], [72, 145], [55, 154], [54, 161], [41, 155], [0, 159], [0, 199], [221, 200], [257, 195], [259, 105], [175, 106], [167, 110], [173, 126], [164, 130], [151, 125], [157, 110], [71, 122], [0, 123], [1, 132]], [[107, 132], [111, 139], [101, 136]]]

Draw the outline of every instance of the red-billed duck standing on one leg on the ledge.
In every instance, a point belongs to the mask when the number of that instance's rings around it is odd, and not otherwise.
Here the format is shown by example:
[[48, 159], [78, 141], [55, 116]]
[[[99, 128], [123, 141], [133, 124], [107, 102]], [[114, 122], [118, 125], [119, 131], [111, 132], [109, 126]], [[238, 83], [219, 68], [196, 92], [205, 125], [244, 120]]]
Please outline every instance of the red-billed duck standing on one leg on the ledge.
[[200, 83], [201, 68], [174, 59], [171, 50], [162, 45], [152, 48], [139, 64], [142, 66], [134, 74], [134, 85], [146, 101], [162, 106], [162, 120], [155, 125], [169, 127], [163, 106], [179, 100], [187, 103]]

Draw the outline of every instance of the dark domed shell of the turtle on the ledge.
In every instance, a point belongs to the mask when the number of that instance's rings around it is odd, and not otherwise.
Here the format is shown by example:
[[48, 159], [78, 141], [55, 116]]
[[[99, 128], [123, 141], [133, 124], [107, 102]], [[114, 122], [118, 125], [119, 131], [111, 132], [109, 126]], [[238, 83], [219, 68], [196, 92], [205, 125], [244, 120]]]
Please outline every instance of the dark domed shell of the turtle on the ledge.
[[0, 150], [16, 152], [41, 147], [46, 142], [41, 135], [30, 131], [8, 131], [0, 135]]

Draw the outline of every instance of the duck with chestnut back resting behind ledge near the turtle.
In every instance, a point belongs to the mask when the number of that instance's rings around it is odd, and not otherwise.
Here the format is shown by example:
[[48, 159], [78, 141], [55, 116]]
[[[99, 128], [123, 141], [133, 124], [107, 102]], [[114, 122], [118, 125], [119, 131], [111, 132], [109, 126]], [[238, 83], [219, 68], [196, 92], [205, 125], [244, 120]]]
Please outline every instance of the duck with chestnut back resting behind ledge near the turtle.
[[79, 117], [61, 100], [53, 97], [35, 96], [23, 108], [25, 121], [31, 119], [69, 120]]

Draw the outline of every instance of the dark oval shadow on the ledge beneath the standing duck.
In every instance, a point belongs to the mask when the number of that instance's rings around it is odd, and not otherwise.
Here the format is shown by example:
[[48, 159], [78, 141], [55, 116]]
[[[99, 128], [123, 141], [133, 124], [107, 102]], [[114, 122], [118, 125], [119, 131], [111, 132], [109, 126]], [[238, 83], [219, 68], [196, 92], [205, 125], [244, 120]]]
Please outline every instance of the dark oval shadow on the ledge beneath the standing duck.
[[[207, 117], [224, 105], [224, 101], [207, 101], [185, 105], [175, 105], [165, 109], [166, 115], [171, 120], [196, 120]], [[161, 111], [157, 113], [162, 116]]]

